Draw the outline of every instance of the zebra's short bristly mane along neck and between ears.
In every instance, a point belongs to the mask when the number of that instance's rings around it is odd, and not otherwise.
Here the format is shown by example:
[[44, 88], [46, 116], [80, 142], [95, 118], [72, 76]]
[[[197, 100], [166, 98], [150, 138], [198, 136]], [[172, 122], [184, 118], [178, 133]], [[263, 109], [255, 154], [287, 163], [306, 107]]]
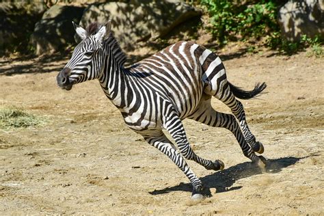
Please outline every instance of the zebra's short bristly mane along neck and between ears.
[[[101, 27], [103, 27], [103, 24], [100, 24], [97, 22], [90, 23], [90, 25], [88, 25], [86, 28], [88, 36], [92, 36], [92, 35], [96, 34]], [[110, 47], [111, 51], [113, 52], [113, 56], [116, 59], [116, 63], [120, 67], [124, 66], [124, 64], [127, 60], [127, 57], [126, 57], [124, 51], [122, 51], [122, 48], [120, 48], [120, 45], [119, 45], [118, 41], [116, 40], [116, 38], [113, 36], [112, 32], [109, 33], [109, 36], [105, 40], [105, 42], [107, 44], [109, 44], [109, 47]]]

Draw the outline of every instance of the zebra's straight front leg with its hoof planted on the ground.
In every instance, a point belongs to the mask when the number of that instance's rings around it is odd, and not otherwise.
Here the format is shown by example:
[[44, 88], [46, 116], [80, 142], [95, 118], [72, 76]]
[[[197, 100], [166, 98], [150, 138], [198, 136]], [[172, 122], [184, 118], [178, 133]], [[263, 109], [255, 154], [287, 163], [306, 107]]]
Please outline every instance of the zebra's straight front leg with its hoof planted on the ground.
[[185, 173], [187, 178], [189, 178], [193, 187], [191, 198], [193, 200], [204, 199], [204, 195], [202, 195], [203, 186], [201, 180], [192, 172], [185, 159], [176, 151], [172, 142], [165, 137], [163, 132], [161, 131], [160, 135], [157, 137], [150, 137], [149, 135], [143, 135], [143, 137], [149, 144], [166, 154], [167, 157], [176, 163], [180, 170]]

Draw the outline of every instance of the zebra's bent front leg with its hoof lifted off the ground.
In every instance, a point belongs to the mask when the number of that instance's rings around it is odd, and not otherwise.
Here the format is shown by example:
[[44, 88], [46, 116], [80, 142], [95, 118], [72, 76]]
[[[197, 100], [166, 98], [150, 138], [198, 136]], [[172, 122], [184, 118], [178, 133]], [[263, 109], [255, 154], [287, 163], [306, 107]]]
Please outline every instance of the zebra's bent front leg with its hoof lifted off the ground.
[[223, 170], [224, 163], [221, 160], [210, 161], [199, 157], [195, 152], [193, 152], [189, 141], [187, 139], [187, 135], [185, 133], [185, 129], [183, 127], [183, 123], [176, 112], [171, 112], [168, 114], [167, 121], [165, 122], [165, 128], [171, 134], [174, 141], [180, 150], [180, 153], [185, 157], [185, 159], [189, 159], [195, 161], [196, 163], [202, 165], [206, 168], [206, 170]]

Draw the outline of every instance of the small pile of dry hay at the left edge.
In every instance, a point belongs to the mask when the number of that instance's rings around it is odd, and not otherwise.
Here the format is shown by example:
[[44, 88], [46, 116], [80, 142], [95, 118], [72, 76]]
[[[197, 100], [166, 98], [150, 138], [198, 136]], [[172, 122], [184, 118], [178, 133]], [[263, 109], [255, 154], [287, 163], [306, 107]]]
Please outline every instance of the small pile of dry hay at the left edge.
[[25, 128], [44, 124], [46, 118], [33, 115], [16, 107], [0, 107], [0, 128]]

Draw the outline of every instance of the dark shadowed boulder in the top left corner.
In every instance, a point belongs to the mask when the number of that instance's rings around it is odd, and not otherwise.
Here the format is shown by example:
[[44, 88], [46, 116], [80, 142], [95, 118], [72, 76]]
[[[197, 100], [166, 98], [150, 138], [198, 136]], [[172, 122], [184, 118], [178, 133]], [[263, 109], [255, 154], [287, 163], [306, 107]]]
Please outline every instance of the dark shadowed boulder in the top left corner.
[[10, 1], [0, 3], [0, 55], [25, 52], [35, 23], [46, 10], [42, 2]]

